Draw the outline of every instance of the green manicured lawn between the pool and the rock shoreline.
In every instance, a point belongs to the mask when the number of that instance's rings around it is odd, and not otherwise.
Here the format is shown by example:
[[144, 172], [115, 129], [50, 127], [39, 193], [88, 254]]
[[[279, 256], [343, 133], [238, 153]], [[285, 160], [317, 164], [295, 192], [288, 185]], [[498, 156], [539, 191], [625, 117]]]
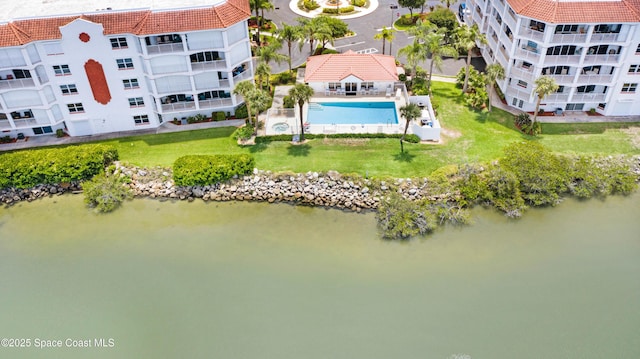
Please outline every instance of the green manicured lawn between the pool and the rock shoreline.
[[396, 139], [314, 139], [304, 145], [272, 142], [239, 147], [229, 137], [234, 128], [104, 142], [118, 148], [121, 160], [142, 166], [170, 166], [186, 154], [252, 153], [258, 168], [265, 170], [337, 170], [393, 177], [420, 177], [448, 164], [490, 161], [500, 157], [507, 144], [530, 139], [554, 151], [640, 154], [638, 124], [544, 124], [544, 134], [534, 139], [518, 132], [507, 112], [468, 109], [453, 84], [434, 83], [434, 98], [440, 103], [442, 125], [457, 135], [445, 136], [443, 145], [405, 144], [405, 154]]

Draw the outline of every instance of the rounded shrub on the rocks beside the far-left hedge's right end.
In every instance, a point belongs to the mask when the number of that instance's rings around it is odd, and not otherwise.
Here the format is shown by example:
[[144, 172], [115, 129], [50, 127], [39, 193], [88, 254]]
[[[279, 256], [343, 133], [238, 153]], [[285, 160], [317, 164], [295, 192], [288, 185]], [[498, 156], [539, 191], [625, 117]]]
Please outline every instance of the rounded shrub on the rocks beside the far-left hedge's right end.
[[101, 213], [118, 208], [125, 199], [132, 197], [125, 181], [115, 175], [100, 173], [82, 183], [84, 202]]

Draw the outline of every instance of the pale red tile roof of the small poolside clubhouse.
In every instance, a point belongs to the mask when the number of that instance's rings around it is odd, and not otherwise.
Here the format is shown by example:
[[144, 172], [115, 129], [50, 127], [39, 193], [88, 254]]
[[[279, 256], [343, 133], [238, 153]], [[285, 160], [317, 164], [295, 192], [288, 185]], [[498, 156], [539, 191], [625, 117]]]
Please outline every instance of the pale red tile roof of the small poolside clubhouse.
[[344, 54], [311, 56], [307, 59], [304, 82], [340, 81], [353, 75], [362, 81], [397, 81], [393, 56], [379, 54]]

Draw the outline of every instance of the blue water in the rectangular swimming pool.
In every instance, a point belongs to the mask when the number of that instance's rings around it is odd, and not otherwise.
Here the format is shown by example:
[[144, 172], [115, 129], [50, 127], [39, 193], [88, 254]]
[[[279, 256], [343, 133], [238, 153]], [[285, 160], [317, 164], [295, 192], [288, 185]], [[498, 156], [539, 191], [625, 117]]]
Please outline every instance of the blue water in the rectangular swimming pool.
[[307, 122], [313, 125], [397, 124], [394, 102], [312, 102]]

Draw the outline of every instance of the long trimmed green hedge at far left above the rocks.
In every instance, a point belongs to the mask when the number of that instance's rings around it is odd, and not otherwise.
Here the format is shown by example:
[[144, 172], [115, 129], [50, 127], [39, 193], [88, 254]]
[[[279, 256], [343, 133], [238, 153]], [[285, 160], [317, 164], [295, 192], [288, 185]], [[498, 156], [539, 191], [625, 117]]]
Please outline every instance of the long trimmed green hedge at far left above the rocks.
[[112, 146], [81, 145], [0, 155], [0, 188], [28, 188], [92, 178], [118, 159]]

